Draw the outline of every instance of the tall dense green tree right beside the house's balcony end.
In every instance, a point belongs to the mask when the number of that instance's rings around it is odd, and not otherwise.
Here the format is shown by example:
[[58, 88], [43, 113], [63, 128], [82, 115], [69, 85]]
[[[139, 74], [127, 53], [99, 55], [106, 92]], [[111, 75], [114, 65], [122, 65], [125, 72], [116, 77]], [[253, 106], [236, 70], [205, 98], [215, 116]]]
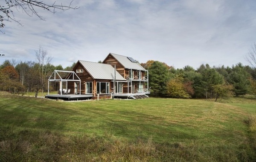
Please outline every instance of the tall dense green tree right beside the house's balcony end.
[[153, 95], [165, 97], [167, 92], [167, 82], [170, 79], [168, 67], [160, 61], [154, 61], [148, 68], [149, 86]]

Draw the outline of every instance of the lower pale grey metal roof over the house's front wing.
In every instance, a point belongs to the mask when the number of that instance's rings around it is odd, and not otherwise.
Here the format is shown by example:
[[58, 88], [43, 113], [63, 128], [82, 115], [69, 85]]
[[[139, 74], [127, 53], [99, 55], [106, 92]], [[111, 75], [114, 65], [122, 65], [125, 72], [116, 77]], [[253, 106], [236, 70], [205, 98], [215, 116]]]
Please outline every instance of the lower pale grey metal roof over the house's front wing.
[[[110, 64], [102, 64], [97, 62], [90, 62], [90, 61], [82, 61], [79, 60], [80, 64], [84, 67], [85, 70], [94, 78], [94, 79], [114, 79], [114, 68]], [[124, 80], [125, 78], [122, 77], [116, 71], [116, 80]]]

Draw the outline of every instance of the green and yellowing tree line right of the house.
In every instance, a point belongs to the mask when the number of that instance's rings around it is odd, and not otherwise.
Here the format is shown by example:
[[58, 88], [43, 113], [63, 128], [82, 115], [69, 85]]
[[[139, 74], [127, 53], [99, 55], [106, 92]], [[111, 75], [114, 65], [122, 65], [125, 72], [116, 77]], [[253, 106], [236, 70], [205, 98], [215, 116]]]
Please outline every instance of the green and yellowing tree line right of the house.
[[196, 70], [189, 65], [175, 69], [153, 60], [141, 65], [148, 70], [154, 97], [215, 98], [217, 101], [229, 95], [256, 95], [256, 69], [241, 63], [232, 67], [201, 64]]

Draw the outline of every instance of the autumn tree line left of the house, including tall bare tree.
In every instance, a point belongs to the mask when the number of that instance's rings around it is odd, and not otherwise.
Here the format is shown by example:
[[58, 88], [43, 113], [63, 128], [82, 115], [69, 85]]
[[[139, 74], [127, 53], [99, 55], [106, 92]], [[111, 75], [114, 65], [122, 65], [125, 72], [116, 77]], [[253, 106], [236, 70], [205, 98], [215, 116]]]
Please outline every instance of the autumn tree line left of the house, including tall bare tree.
[[[24, 92], [47, 91], [48, 78], [54, 70], [72, 70], [74, 64], [63, 68], [51, 64], [52, 57], [47, 50], [40, 47], [35, 51], [36, 61], [5, 60], [0, 65], [0, 91], [23, 95]], [[51, 87], [55, 88], [55, 87]]]

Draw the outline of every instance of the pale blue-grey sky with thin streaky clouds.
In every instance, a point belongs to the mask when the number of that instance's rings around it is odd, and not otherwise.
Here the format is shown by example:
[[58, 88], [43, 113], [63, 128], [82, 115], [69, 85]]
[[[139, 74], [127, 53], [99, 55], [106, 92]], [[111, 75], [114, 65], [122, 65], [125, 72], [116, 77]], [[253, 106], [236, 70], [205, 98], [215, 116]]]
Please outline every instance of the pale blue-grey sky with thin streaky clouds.
[[36, 61], [42, 47], [62, 67], [103, 61], [108, 53], [175, 68], [231, 67], [248, 65], [245, 56], [256, 42], [255, 0], [73, 0], [71, 6], [79, 8], [55, 14], [35, 8], [44, 20], [13, 8], [22, 25], [5, 21], [0, 28], [0, 64]]

